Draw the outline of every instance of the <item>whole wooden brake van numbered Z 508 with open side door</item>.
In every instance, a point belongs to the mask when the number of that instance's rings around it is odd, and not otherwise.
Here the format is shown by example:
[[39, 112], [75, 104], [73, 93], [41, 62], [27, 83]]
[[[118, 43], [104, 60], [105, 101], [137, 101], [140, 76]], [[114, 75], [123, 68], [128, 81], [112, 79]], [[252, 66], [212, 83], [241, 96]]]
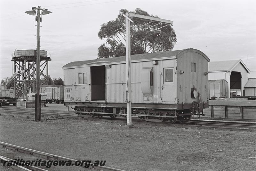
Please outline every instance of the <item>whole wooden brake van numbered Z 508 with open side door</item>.
[[[188, 48], [131, 55], [132, 115], [145, 121], [188, 122], [208, 108], [208, 62]], [[64, 105], [82, 117], [126, 117], [125, 56], [70, 62]]]

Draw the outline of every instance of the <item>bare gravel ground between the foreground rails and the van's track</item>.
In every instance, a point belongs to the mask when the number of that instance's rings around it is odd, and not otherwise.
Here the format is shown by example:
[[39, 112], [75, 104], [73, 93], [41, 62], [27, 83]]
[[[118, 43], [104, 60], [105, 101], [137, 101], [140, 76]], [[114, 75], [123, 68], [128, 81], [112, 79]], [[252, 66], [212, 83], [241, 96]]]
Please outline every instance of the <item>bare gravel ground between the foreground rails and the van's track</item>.
[[[256, 132], [124, 125], [122, 121], [68, 118], [34, 122], [0, 116], [0, 141], [73, 159], [107, 160], [106, 166], [124, 170], [256, 168]], [[0, 153], [9, 152], [2, 149]], [[18, 156], [13, 153], [11, 157]], [[76, 169], [80, 168], [61, 168]]]

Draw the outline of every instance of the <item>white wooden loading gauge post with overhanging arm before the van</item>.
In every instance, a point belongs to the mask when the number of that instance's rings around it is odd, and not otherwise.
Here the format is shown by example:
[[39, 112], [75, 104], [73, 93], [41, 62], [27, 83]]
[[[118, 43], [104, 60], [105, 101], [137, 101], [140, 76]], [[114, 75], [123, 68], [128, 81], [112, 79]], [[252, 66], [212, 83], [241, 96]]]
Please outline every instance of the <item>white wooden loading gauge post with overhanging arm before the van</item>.
[[[130, 27], [130, 23], [133, 21], [131, 20], [131, 18], [136, 18], [136, 19], [142, 19], [142, 20], [148, 20], [150, 22], [156, 22], [156, 23], [161, 23], [161, 24], [166, 24], [167, 25], [173, 25], [173, 21], [171, 20], [165, 20], [165, 19], [161, 19], [161, 18], [155, 18], [155, 17], [150, 17], [150, 16], [144, 16], [144, 15], [140, 15], [140, 14], [134, 14], [134, 13], [130, 13], [130, 12], [126, 12], [125, 14], [121, 11], [119, 11], [119, 13], [125, 17], [125, 36], [126, 36], [126, 113], [127, 113], [127, 125], [131, 126], [132, 125], [132, 91], [131, 91], [131, 27]], [[147, 25], [147, 24], [145, 24]], [[145, 26], [142, 25], [142, 26]], [[158, 25], [158, 24], [156, 24]], [[156, 26], [154, 25], [154, 26]], [[165, 26], [162, 26], [160, 28], [163, 28]], [[150, 29], [152, 28], [148, 27], [148, 28], [142, 28], [141, 29], [149, 29], [149, 30], [154, 30], [154, 31], [160, 31], [160, 28], [157, 29]], [[160, 32], [161, 34], [161, 32]], [[159, 34], [159, 35], [160, 35]]]

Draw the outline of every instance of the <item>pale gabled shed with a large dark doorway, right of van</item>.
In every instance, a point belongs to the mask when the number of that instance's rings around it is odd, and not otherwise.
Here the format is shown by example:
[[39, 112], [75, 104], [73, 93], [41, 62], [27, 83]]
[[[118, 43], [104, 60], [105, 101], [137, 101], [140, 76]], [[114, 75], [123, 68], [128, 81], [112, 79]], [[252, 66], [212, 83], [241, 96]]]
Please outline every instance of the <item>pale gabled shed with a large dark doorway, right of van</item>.
[[244, 85], [250, 70], [242, 60], [209, 62], [209, 80], [224, 79], [228, 82], [228, 97], [243, 96]]

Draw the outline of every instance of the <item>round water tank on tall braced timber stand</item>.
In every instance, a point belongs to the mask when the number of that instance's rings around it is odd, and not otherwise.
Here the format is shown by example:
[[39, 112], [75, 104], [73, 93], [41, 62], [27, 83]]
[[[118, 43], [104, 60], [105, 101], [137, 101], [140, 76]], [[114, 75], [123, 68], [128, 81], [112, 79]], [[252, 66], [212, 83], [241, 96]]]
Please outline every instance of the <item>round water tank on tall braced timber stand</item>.
[[[36, 92], [36, 50], [15, 50], [12, 55], [12, 74], [24, 70], [22, 74], [14, 79], [14, 94], [27, 98], [29, 89]], [[41, 85], [48, 85], [48, 61], [50, 54], [40, 50], [40, 77]]]

